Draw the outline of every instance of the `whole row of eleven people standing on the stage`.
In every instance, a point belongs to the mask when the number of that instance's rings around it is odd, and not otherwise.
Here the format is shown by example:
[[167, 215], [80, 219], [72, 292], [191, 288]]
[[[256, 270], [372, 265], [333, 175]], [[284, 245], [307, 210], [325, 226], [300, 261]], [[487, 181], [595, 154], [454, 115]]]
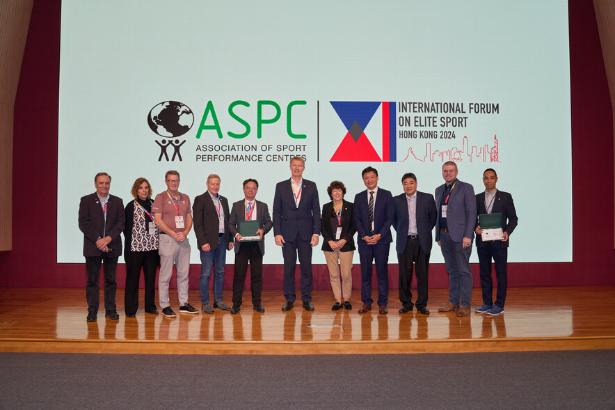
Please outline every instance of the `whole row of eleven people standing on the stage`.
[[[221, 178], [207, 177], [207, 191], [194, 200], [179, 192], [179, 173], [165, 175], [167, 190], [152, 200], [152, 187], [145, 178], [138, 178], [131, 189], [134, 197], [124, 207], [122, 199], [109, 194], [111, 176], [95, 176], [96, 192], [81, 198], [79, 228], [83, 232], [83, 255], [86, 258], [88, 285], [88, 322], [97, 320], [99, 307], [99, 275], [104, 269], [105, 316], [119, 318], [115, 305], [115, 267], [122, 254], [120, 234], [125, 235], [126, 289], [125, 315], [135, 317], [138, 309], [138, 283], [143, 269], [145, 278], [145, 312], [158, 314], [154, 301], [157, 265], [160, 266], [158, 288], [159, 305], [166, 317], [175, 317], [168, 296], [173, 265], [177, 270], [179, 312], [197, 314], [188, 301], [190, 243], [189, 232], [194, 228], [200, 253], [199, 290], [203, 313], [241, 310], [243, 283], [250, 266], [253, 309], [264, 313], [262, 306], [263, 237], [273, 228], [275, 244], [282, 248], [284, 260], [283, 311], [291, 310], [296, 301], [295, 268], [297, 259], [301, 270], [301, 301], [303, 308], [313, 311], [312, 305], [312, 249], [319, 244], [324, 251], [335, 304], [331, 310], [351, 310], [353, 253], [358, 248], [361, 265], [361, 301], [358, 312], [372, 310], [372, 271], [376, 268], [378, 313], [388, 313], [388, 255], [393, 242], [391, 227], [397, 232], [395, 249], [399, 260], [399, 313], [414, 307], [429, 315], [428, 276], [429, 256], [436, 228], [436, 242], [442, 249], [449, 274], [449, 301], [440, 312], [456, 311], [457, 316], [470, 314], [472, 299], [472, 271], [470, 253], [474, 232], [480, 261], [483, 306], [478, 313], [497, 315], [504, 310], [506, 297], [506, 258], [509, 235], [517, 225], [517, 216], [510, 194], [495, 189], [497, 175], [489, 168], [484, 172], [486, 191], [474, 195], [471, 184], [457, 179], [454, 162], [442, 165], [445, 183], [431, 194], [417, 191], [417, 177], [406, 173], [401, 178], [404, 192], [393, 197], [390, 191], [378, 187], [378, 171], [368, 166], [362, 171], [364, 191], [356, 194], [354, 202], [344, 199], [346, 187], [333, 181], [327, 188], [331, 202], [322, 209], [316, 184], [303, 178], [305, 160], [294, 157], [290, 161], [291, 178], [275, 187], [272, 214], [266, 203], [256, 200], [258, 182], [243, 181], [243, 198], [229, 208], [227, 198], [219, 194]], [[477, 214], [502, 213], [504, 237], [497, 242], [481, 241], [483, 232]], [[243, 237], [241, 223], [256, 221], [256, 232]], [[354, 235], [358, 232], [357, 244]], [[246, 232], [243, 232], [246, 235]], [[223, 301], [223, 279], [226, 252], [234, 249], [234, 280], [232, 306]], [[497, 299], [492, 300], [491, 260], [495, 261]], [[410, 283], [413, 267], [417, 277], [417, 298], [412, 301]], [[209, 278], [213, 272], [213, 301], [209, 299]]]

